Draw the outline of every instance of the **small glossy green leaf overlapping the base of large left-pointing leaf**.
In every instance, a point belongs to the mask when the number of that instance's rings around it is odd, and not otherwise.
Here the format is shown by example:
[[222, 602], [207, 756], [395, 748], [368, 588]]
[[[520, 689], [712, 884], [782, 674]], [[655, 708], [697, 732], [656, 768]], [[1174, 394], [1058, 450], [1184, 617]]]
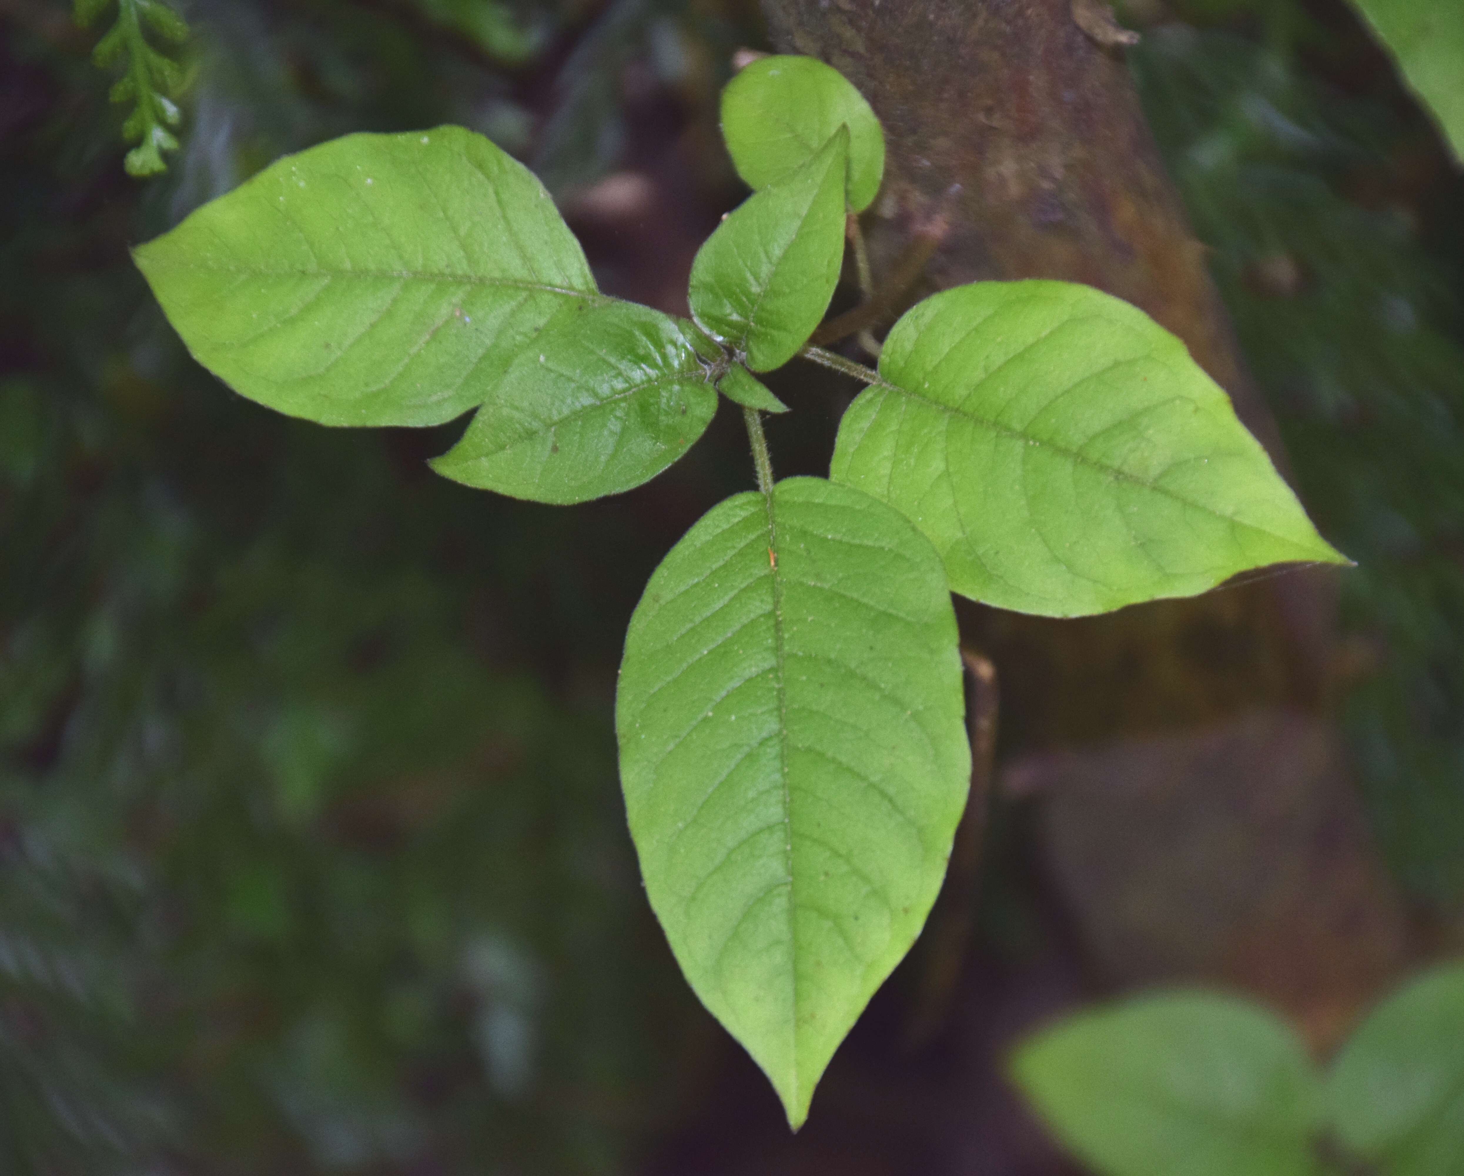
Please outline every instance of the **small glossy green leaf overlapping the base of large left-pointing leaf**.
[[649, 482], [717, 409], [694, 337], [690, 322], [632, 302], [567, 308], [432, 469], [537, 502], [584, 502]]

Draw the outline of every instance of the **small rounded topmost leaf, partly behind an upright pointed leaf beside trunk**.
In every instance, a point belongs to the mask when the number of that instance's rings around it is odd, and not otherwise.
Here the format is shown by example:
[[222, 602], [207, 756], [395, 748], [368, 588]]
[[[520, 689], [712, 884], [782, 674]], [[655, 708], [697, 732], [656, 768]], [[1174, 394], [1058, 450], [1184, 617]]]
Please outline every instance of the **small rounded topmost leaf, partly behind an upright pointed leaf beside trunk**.
[[839, 70], [813, 57], [761, 57], [722, 91], [722, 138], [748, 187], [782, 183], [849, 127], [849, 208], [862, 212], [884, 177], [884, 132]]

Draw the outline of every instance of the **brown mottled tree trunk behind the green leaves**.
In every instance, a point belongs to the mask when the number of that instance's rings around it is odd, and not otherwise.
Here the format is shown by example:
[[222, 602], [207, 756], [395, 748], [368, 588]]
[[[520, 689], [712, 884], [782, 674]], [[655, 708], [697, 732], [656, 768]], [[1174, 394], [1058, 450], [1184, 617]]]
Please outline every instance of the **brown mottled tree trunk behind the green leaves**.
[[[1121, 56], [1124, 38], [1105, 23], [1104, 4], [763, 0], [763, 9], [780, 51], [833, 64], [884, 124], [886, 180], [867, 218], [877, 275], [915, 233], [935, 228], [941, 237], [925, 271], [927, 287], [1041, 277], [1117, 294], [1184, 340], [1285, 469], [1275, 423], [1246, 373], [1206, 269], [1205, 248], [1189, 227], [1139, 107]], [[1162, 732], [1190, 732], [1203, 748], [1209, 745], [1203, 740], [1221, 738], [1214, 732], [1243, 723], [1250, 712], [1325, 710], [1335, 693], [1331, 602], [1326, 576], [1290, 573], [1076, 622], [971, 608], [962, 625], [1000, 671], [1007, 748], [1031, 754]], [[1263, 729], [1281, 732], [1278, 740], [1293, 734], [1310, 740], [1307, 748], [1328, 738], [1310, 722], [1272, 719]], [[1265, 740], [1224, 745], [1241, 744], [1253, 744], [1259, 756], [1278, 754], [1277, 744]], [[1113, 776], [1114, 759], [1104, 754], [1102, 770]], [[1217, 786], [1234, 798], [1274, 782], [1262, 764], [1240, 753], [1218, 764], [1205, 756], [1165, 754], [1174, 772], [1199, 764], [1176, 785], [1181, 794], [1192, 789], [1196, 800]], [[1066, 789], [1064, 822], [1080, 827], [1083, 804], [1099, 811], [1107, 803], [1104, 789], [1073, 786], [1085, 778], [1082, 759], [1063, 763], [1051, 788]], [[1026, 772], [1022, 779], [1032, 786], [1039, 775]], [[1085, 912], [1099, 909], [1092, 902], [1102, 876], [1133, 877], [1135, 855], [1151, 852], [1152, 845], [1136, 844], [1110, 822], [1104, 826], [1108, 842], [1085, 844], [1080, 864], [1072, 855], [1056, 861], [1060, 887], [1067, 879], [1086, 890], [1089, 901], [1075, 902], [1073, 914], [1080, 933], [1094, 940], [1098, 961], [1113, 958], [1117, 943], [1130, 952], [1135, 943], [1155, 945], [1152, 958], [1167, 961], [1158, 971], [1110, 968], [1116, 983], [1164, 975], [1225, 978], [1290, 1008], [1319, 1046], [1335, 1038], [1401, 967], [1407, 937], [1401, 907], [1360, 822], [1326, 816], [1338, 805], [1354, 807], [1345, 772], [1315, 775], [1319, 782], [1296, 800], [1303, 808], [1315, 805], [1315, 819], [1303, 814], [1293, 825], [1312, 830], [1313, 841], [1341, 838], [1328, 844], [1328, 861], [1341, 854], [1356, 868], [1328, 874], [1348, 879], [1329, 889], [1315, 868], [1288, 871], [1285, 861], [1278, 863], [1271, 871], [1275, 877], [1301, 887], [1319, 883], [1285, 918], [1263, 926], [1258, 918], [1250, 926], [1244, 898], [1231, 893], [1236, 880], [1227, 867], [1253, 854], [1227, 858], [1218, 852], [1212, 877], [1189, 876], [1183, 893], [1157, 893], [1127, 921], [1113, 911], [1101, 920]], [[1092, 772], [1088, 776], [1097, 779]], [[1167, 795], [1174, 811], [1183, 813], [1184, 805]], [[1236, 804], [1265, 811], [1265, 797], [1253, 800]], [[1227, 832], [1234, 836], [1243, 827], [1241, 814]], [[1263, 833], [1259, 826], [1256, 832]], [[1193, 845], [1195, 830], [1187, 827], [1186, 835]], [[1143, 836], [1162, 841], [1152, 822]], [[1293, 854], [1299, 863], [1313, 860], [1315, 848], [1285, 838], [1266, 844], [1266, 852]], [[1064, 852], [1058, 842], [1044, 851]], [[1177, 956], [1174, 945], [1195, 940], [1192, 931], [1180, 934], [1179, 928], [1193, 923], [1196, 887], [1206, 886], [1214, 893], [1200, 905], [1228, 912], [1214, 927], [1220, 942], [1196, 949], [1193, 958]], [[1304, 949], [1297, 949], [1300, 926], [1309, 928]], [[1359, 933], [1370, 942], [1359, 945]]]

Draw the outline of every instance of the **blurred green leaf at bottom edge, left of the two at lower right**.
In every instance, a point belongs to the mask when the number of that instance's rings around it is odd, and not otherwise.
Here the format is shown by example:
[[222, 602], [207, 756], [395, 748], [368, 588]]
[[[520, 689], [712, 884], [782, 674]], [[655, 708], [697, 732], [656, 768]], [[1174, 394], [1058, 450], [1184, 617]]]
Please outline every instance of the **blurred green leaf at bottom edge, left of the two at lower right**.
[[1318, 1081], [1296, 1032], [1212, 993], [1080, 1012], [1022, 1044], [1012, 1076], [1102, 1176], [1312, 1176]]

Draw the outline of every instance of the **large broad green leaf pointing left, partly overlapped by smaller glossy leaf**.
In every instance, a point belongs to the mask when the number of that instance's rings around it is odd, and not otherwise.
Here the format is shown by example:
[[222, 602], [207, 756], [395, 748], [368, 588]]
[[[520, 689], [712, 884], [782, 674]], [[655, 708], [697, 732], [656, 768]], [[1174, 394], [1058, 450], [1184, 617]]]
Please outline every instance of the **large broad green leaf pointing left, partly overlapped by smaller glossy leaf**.
[[539, 180], [455, 126], [287, 155], [135, 258], [199, 363], [322, 425], [451, 420], [597, 297]]

